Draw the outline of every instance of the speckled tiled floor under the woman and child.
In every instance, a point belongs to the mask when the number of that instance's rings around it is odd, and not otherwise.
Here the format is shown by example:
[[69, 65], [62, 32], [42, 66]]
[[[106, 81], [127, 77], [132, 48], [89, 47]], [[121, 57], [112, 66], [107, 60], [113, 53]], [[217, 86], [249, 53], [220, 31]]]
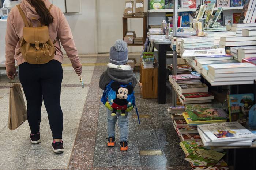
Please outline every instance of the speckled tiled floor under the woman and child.
[[[30, 144], [27, 121], [15, 131], [8, 129], [10, 85], [6, 76], [0, 76], [0, 169], [189, 169], [167, 114], [170, 99], [162, 105], [157, 104], [156, 99], [142, 99], [138, 86], [135, 89], [136, 103], [139, 113], [146, 118], [141, 118], [139, 125], [135, 111], [130, 113], [127, 152], [121, 152], [118, 146], [106, 147], [106, 108], [100, 102], [102, 91], [98, 81], [106, 69], [108, 54], [82, 55], [81, 60], [84, 89], [80, 87], [69, 59], [64, 59], [61, 90], [63, 154], [52, 152], [52, 134], [45, 107], [42, 107], [41, 144]], [[118, 131], [117, 126], [117, 144]], [[162, 155], [140, 155], [142, 150], [161, 150]]]

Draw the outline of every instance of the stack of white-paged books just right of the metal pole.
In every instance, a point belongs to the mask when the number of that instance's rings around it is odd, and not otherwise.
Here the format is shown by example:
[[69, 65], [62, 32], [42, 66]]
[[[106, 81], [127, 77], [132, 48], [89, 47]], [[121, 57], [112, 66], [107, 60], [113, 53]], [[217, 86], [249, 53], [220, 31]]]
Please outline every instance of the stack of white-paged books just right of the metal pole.
[[205, 50], [214, 47], [214, 38], [212, 37], [192, 37], [182, 38], [180, 43], [180, 56], [185, 50]]

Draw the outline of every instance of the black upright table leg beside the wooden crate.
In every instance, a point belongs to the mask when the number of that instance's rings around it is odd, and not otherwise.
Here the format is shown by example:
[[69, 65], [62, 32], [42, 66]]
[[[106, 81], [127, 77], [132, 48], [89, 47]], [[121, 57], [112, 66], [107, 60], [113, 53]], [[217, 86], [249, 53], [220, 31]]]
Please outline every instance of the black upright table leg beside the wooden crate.
[[166, 47], [158, 48], [158, 104], [166, 103]]

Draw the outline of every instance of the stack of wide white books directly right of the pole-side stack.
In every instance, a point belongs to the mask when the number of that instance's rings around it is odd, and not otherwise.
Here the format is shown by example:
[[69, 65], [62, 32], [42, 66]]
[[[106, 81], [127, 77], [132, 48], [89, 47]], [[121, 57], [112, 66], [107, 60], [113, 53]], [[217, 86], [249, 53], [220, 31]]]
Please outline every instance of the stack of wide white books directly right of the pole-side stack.
[[[236, 37], [221, 37], [219, 48], [230, 50], [230, 47], [235, 46], [253, 46], [256, 45], [256, 36], [236, 36]], [[231, 52], [231, 51], [226, 51]]]

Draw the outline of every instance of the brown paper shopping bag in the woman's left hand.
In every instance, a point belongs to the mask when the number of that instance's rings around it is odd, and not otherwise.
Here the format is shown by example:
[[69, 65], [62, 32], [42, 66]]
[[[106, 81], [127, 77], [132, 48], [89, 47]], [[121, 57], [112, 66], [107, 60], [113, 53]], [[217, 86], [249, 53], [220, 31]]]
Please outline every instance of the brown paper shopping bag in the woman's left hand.
[[15, 130], [27, 120], [27, 109], [19, 84], [10, 87], [9, 129]]

